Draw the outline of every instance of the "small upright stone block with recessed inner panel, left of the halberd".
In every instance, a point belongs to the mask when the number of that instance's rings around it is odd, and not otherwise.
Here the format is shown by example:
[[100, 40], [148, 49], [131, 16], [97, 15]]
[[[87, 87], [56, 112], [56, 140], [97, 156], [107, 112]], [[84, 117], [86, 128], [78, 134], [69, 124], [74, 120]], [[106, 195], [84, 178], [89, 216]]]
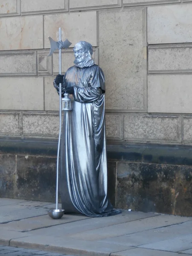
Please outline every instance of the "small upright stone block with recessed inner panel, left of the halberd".
[[52, 56], [49, 50], [38, 51], [38, 75], [52, 75]]

